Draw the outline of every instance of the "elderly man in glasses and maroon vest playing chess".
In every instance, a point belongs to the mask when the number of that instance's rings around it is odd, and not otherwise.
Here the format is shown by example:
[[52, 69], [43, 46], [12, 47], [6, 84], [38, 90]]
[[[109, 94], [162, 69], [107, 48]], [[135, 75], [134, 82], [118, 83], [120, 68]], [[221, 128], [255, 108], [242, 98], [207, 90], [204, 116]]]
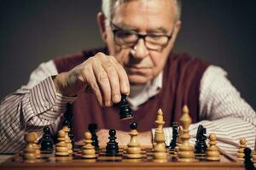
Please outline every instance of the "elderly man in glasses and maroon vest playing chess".
[[[71, 54], [39, 65], [26, 86], [1, 103], [0, 152], [24, 146], [23, 135], [61, 124], [65, 105], [73, 104], [76, 140], [83, 139], [89, 123], [97, 123], [100, 142], [108, 129], [118, 130], [126, 144], [129, 121], [120, 121], [121, 94], [128, 102], [141, 132], [141, 144], [151, 143], [157, 110], [165, 116], [166, 142], [172, 136], [183, 105], [189, 105], [195, 136], [199, 124], [217, 133], [222, 149], [236, 152], [239, 139], [253, 148], [255, 111], [241, 99], [226, 73], [188, 54], [172, 54], [181, 27], [180, 0], [103, 0], [97, 15], [106, 48]], [[126, 132], [125, 132], [126, 131]]]

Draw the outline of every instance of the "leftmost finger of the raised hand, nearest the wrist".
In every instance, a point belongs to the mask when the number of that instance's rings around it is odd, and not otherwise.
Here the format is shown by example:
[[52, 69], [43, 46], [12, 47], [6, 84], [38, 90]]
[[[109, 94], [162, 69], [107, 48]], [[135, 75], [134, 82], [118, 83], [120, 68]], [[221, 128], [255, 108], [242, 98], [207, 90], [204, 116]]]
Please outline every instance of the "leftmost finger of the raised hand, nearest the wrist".
[[81, 75], [84, 77], [84, 80], [90, 86], [92, 92], [96, 95], [96, 99], [98, 100], [100, 105], [103, 105], [102, 93], [96, 82], [96, 77], [94, 75], [92, 67], [90, 67], [90, 69], [83, 70]]

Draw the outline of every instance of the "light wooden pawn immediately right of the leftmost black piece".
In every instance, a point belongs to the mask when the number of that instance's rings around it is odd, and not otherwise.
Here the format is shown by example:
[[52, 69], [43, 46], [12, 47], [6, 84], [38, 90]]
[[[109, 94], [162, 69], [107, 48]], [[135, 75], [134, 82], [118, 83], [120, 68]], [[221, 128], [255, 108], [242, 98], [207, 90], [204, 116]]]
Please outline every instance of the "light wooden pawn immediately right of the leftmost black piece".
[[66, 144], [66, 133], [60, 130], [58, 133], [58, 143], [55, 147], [55, 156], [69, 156], [67, 144]]

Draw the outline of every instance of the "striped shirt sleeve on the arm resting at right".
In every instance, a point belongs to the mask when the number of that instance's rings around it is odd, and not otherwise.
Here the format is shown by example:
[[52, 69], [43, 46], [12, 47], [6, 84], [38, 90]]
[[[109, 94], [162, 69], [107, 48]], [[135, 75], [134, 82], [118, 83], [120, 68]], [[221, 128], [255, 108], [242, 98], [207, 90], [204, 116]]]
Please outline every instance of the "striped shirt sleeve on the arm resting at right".
[[[191, 124], [190, 142], [195, 144], [197, 127], [207, 128], [207, 136], [216, 133], [218, 147], [230, 154], [236, 154], [239, 140], [245, 138], [247, 147], [253, 150], [256, 134], [256, 113], [227, 79], [227, 73], [211, 65], [201, 79], [200, 118], [201, 122]], [[154, 131], [153, 131], [154, 133]], [[166, 144], [172, 140], [172, 127], [164, 128]]]

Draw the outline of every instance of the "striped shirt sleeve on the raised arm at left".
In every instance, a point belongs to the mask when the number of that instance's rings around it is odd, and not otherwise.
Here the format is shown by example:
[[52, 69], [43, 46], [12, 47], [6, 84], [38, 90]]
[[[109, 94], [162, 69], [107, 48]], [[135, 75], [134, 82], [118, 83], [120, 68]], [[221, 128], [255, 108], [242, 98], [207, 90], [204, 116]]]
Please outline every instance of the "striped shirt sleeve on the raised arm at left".
[[0, 153], [14, 153], [25, 146], [24, 135], [49, 126], [56, 130], [67, 102], [75, 97], [56, 93], [52, 76], [57, 75], [52, 60], [43, 63], [32, 72], [29, 82], [9, 94], [0, 105]]

